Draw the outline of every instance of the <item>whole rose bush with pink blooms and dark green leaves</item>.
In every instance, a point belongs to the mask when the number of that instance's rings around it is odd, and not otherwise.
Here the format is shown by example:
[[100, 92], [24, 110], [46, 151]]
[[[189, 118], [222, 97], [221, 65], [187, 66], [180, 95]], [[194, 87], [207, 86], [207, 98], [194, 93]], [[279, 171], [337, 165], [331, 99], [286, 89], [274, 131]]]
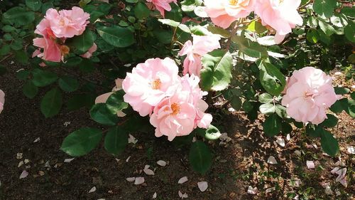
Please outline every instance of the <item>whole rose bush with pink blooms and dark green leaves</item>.
[[339, 68], [354, 78], [352, 4], [82, 0], [58, 9], [58, 1], [19, 2], [0, 2], [0, 64], [23, 65], [17, 76], [26, 97], [47, 91], [45, 117], [87, 107], [104, 126], [70, 133], [62, 150], [72, 156], [90, 152], [103, 135], [107, 152], [118, 155], [130, 132], [155, 132], [191, 145], [192, 168], [207, 172], [212, 153], [202, 141], [226, 130], [211, 107], [265, 119], [269, 137], [297, 127], [336, 156], [332, 113], [355, 115], [354, 91], [334, 88], [326, 74]]

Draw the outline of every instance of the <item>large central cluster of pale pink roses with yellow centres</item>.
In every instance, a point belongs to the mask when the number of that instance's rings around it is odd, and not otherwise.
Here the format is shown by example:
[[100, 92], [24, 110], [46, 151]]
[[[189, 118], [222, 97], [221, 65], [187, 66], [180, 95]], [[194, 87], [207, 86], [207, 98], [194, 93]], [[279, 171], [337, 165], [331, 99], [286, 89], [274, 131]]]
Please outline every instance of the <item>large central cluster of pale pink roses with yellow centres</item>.
[[166, 135], [172, 141], [212, 122], [212, 115], [204, 113], [208, 105], [199, 82], [195, 75], [180, 77], [174, 60], [151, 58], [127, 73], [122, 83], [124, 101], [139, 115], [151, 116], [156, 137]]

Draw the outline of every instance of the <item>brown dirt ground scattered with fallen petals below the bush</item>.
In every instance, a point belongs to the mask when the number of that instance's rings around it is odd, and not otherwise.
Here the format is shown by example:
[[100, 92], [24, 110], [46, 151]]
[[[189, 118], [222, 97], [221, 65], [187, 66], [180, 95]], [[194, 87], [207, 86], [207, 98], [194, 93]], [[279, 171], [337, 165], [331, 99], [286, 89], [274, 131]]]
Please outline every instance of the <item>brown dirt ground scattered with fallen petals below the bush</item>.
[[[15, 77], [18, 69], [9, 65], [9, 73], [0, 78], [0, 88], [6, 93], [0, 115], [1, 200], [152, 199], [155, 192], [156, 199], [180, 199], [178, 191], [188, 199], [288, 199], [296, 195], [298, 199], [354, 199], [355, 159], [347, 147], [355, 146], [355, 122], [345, 113], [339, 115], [341, 122], [332, 130], [341, 146], [339, 158], [323, 154], [320, 140], [305, 137], [302, 130], [293, 130], [290, 141], [280, 147], [276, 138], [263, 135], [259, 120], [249, 122], [242, 112], [234, 112], [220, 118], [231, 141], [210, 143], [214, 164], [205, 175], [192, 171], [187, 148], [178, 149], [166, 138], [155, 138], [153, 132], [132, 133], [138, 142], [129, 144], [119, 157], [109, 155], [101, 144], [84, 157], [64, 162], [70, 158], [60, 150], [65, 136], [97, 124], [84, 109], [62, 110], [60, 115], [45, 119], [39, 109], [45, 90], [33, 100], [26, 98], [23, 83]], [[342, 76], [337, 76], [336, 83], [354, 84], [343, 83]], [[302, 152], [300, 156], [297, 150]], [[278, 164], [268, 164], [269, 156]], [[168, 165], [158, 166], [160, 159]], [[339, 166], [339, 159], [347, 168], [347, 188], [330, 173]], [[316, 169], [307, 169], [307, 160], [316, 162]], [[155, 175], [142, 172], [146, 164]], [[19, 179], [25, 169], [28, 177]], [[178, 184], [185, 176], [188, 181]], [[127, 177], [144, 177], [146, 181], [136, 186], [126, 181]], [[207, 191], [200, 191], [199, 181], [208, 182]], [[332, 194], [325, 194], [321, 183], [329, 183]], [[247, 194], [249, 186], [256, 187], [257, 194]], [[89, 193], [93, 187], [96, 191]]]

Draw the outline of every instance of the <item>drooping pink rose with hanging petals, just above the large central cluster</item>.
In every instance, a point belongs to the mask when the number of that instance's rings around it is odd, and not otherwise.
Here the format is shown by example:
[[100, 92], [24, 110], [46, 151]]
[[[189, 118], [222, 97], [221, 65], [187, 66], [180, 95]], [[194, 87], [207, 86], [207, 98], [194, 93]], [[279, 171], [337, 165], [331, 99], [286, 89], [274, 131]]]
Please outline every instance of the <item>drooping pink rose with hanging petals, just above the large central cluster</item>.
[[185, 42], [179, 56], [186, 55], [184, 60], [183, 74], [190, 73], [200, 77], [202, 69], [201, 58], [214, 49], [221, 48], [219, 45], [219, 36], [193, 36], [193, 44], [191, 41]]

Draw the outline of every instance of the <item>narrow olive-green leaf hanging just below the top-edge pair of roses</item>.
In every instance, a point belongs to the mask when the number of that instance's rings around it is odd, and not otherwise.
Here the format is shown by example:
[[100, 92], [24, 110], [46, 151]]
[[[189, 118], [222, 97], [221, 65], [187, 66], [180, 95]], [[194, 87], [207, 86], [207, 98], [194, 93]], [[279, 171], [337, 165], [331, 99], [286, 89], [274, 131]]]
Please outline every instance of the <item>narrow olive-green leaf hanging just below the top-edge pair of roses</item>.
[[248, 38], [245, 38], [243, 36], [232, 36], [231, 41], [236, 44], [239, 51], [245, 53], [248, 56], [251, 56], [253, 58], [268, 57], [268, 52], [266, 51], [266, 48], [264, 48], [257, 42], [249, 40]]

